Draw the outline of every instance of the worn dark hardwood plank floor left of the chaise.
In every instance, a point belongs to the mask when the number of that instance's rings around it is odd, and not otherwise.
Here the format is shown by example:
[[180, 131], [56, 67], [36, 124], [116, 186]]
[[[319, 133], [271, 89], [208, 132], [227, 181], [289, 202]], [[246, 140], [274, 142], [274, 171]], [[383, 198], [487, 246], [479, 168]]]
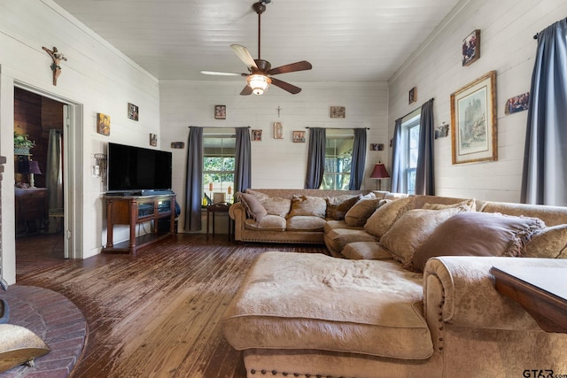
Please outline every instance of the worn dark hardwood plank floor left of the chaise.
[[89, 336], [73, 377], [245, 378], [221, 315], [252, 259], [264, 251], [328, 253], [323, 245], [235, 244], [202, 234], [178, 234], [136, 256], [84, 260], [65, 260], [48, 245], [37, 239], [18, 250], [17, 280], [58, 291], [85, 315]]

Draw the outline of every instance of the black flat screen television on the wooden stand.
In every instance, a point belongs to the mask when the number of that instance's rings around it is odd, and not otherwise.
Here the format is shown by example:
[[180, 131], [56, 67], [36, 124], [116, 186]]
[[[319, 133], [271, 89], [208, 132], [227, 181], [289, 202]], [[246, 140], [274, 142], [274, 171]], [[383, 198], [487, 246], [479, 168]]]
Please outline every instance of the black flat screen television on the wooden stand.
[[171, 190], [171, 161], [171, 152], [108, 143], [107, 190], [125, 195]]

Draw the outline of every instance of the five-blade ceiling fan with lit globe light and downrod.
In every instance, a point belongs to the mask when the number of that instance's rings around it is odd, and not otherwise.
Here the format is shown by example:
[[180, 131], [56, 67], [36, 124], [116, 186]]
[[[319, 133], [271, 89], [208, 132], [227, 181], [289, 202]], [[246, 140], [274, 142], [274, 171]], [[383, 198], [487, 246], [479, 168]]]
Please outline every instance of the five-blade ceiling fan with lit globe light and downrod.
[[287, 90], [292, 95], [298, 94], [301, 89], [289, 82], [281, 81], [271, 76], [279, 73], [293, 73], [296, 71], [310, 70], [313, 66], [307, 60], [301, 60], [296, 63], [291, 63], [289, 65], [279, 66], [272, 68], [272, 65], [268, 60], [260, 58], [260, 18], [261, 14], [266, 11], [266, 5], [271, 3], [271, 0], [262, 0], [258, 3], [252, 4], [252, 9], [254, 12], [258, 13], [258, 58], [252, 58], [248, 49], [240, 44], [231, 44], [230, 47], [237, 54], [237, 57], [243, 61], [243, 63], [248, 67], [248, 73], [222, 73], [216, 71], [201, 71], [204, 74], [210, 75], [222, 75], [222, 76], [243, 76], [246, 78], [247, 85], [240, 92], [242, 96], [248, 96], [252, 93], [254, 95], [261, 95], [266, 90], [270, 84], [274, 84], [283, 90]]

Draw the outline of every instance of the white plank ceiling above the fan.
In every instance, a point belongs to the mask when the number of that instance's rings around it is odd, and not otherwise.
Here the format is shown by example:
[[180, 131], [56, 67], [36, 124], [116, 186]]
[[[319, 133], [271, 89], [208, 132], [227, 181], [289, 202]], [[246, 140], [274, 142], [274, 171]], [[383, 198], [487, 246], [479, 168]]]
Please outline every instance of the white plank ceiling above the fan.
[[[245, 73], [233, 43], [258, 58], [254, 0], [54, 1], [158, 79], [227, 80], [201, 70]], [[261, 16], [261, 58], [272, 67], [313, 65], [278, 76], [284, 81], [387, 81], [457, 3], [273, 0]]]

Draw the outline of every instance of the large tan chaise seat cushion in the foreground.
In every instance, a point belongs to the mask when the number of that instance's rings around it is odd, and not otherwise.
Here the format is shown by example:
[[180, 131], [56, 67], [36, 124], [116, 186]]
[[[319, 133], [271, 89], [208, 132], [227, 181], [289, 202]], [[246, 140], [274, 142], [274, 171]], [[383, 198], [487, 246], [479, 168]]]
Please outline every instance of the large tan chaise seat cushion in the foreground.
[[265, 252], [223, 315], [237, 350], [349, 351], [428, 359], [421, 274], [393, 261]]

